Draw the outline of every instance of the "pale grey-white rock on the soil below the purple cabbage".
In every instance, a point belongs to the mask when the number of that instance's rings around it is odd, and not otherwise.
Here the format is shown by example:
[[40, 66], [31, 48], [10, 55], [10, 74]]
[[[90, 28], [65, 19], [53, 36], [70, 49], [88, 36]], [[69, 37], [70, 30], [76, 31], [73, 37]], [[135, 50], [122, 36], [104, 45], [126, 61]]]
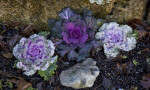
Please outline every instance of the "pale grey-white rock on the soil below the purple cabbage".
[[92, 87], [98, 75], [99, 69], [96, 66], [96, 61], [88, 58], [84, 62], [62, 71], [60, 82], [64, 86], [75, 89]]

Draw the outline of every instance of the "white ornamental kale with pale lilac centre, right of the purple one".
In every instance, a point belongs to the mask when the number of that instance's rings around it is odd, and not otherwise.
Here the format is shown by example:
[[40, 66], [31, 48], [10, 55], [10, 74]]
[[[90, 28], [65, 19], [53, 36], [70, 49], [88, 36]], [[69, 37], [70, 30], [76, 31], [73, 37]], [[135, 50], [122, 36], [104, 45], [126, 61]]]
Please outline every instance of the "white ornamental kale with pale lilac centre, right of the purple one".
[[136, 47], [136, 37], [133, 36], [132, 28], [116, 22], [104, 23], [95, 37], [102, 40], [108, 58], [116, 57], [119, 50], [130, 51]]

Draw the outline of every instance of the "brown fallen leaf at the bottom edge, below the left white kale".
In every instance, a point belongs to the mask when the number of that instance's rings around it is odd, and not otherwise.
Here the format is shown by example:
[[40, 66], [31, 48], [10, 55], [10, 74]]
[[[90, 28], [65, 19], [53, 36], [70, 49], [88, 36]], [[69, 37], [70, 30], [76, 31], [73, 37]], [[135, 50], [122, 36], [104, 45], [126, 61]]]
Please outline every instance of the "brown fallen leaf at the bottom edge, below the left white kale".
[[9, 79], [8, 81], [17, 84], [17, 90], [26, 90], [28, 87], [32, 86], [31, 83], [25, 81], [21, 77], [19, 77], [19, 80]]

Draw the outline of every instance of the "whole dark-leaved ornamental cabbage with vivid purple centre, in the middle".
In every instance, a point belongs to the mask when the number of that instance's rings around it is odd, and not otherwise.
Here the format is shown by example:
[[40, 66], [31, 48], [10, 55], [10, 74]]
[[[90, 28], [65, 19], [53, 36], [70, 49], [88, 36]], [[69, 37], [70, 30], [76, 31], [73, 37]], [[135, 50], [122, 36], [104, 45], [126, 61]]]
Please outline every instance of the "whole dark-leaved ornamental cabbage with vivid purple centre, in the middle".
[[50, 19], [49, 29], [55, 38], [56, 51], [68, 60], [84, 60], [93, 48], [98, 45], [94, 40], [97, 30], [97, 20], [92, 17], [92, 11], [84, 10], [82, 15], [70, 8], [64, 8], [59, 13], [59, 20]]

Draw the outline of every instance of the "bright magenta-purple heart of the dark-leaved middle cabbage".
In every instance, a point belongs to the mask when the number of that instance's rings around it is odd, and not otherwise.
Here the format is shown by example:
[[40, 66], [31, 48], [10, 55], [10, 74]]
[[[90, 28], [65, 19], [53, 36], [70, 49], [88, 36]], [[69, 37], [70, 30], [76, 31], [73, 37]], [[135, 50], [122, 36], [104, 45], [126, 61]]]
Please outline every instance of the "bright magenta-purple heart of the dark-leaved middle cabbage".
[[64, 29], [62, 36], [67, 44], [84, 44], [88, 39], [84, 21], [64, 23]]

